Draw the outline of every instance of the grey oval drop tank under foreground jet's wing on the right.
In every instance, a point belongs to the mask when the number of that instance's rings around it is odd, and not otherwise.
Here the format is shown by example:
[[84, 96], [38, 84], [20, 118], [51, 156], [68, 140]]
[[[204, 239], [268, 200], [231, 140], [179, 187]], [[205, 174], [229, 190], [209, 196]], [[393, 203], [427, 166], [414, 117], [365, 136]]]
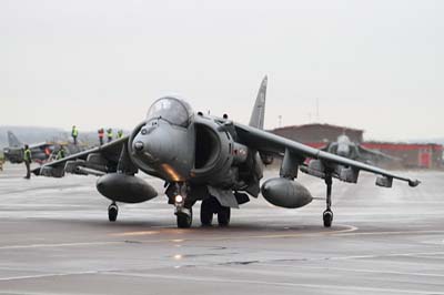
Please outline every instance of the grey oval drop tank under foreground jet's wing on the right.
[[313, 200], [305, 186], [282, 177], [265, 181], [261, 192], [263, 197], [273, 205], [286, 208], [302, 207]]

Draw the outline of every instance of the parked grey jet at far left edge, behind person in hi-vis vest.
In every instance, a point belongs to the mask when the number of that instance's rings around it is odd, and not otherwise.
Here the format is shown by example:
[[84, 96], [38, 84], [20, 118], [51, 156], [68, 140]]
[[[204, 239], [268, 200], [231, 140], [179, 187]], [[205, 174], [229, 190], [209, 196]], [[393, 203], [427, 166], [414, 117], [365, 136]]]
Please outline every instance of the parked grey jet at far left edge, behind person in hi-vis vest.
[[[3, 149], [4, 160], [13, 164], [23, 162], [24, 144], [11, 132], [8, 131], [8, 148]], [[54, 150], [54, 144], [49, 142], [40, 142], [29, 144], [31, 157], [33, 162], [42, 163], [48, 160]]]

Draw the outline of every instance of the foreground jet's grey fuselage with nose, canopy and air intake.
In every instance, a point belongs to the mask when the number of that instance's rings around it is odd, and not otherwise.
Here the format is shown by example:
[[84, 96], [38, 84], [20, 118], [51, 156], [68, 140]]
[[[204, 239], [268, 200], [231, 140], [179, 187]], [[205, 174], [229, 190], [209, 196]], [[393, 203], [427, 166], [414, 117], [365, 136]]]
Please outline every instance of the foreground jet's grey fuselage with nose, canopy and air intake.
[[148, 174], [168, 182], [209, 184], [241, 189], [249, 156], [255, 156], [235, 141], [235, 130], [228, 119], [194, 113], [176, 98], [153, 103], [148, 116], [129, 141], [133, 162]]

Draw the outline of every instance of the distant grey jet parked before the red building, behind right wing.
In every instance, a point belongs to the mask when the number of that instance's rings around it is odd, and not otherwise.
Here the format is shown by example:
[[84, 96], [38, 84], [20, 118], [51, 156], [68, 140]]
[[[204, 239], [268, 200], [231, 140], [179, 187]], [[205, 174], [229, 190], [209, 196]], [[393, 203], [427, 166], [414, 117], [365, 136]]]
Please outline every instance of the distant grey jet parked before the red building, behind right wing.
[[361, 144], [352, 142], [345, 134], [337, 136], [337, 141], [331, 142], [320, 150], [372, 165], [383, 162], [400, 163], [402, 161], [400, 157], [365, 149]]

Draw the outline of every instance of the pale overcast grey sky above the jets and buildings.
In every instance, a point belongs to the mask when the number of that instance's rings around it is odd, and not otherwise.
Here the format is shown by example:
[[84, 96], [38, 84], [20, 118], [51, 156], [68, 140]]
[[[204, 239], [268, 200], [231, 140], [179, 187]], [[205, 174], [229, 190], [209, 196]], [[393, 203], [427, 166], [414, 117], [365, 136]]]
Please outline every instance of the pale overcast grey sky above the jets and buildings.
[[[444, 136], [444, 1], [0, 0], [0, 125], [131, 129], [159, 96], [265, 126]], [[316, 98], [320, 119], [316, 119]]]

